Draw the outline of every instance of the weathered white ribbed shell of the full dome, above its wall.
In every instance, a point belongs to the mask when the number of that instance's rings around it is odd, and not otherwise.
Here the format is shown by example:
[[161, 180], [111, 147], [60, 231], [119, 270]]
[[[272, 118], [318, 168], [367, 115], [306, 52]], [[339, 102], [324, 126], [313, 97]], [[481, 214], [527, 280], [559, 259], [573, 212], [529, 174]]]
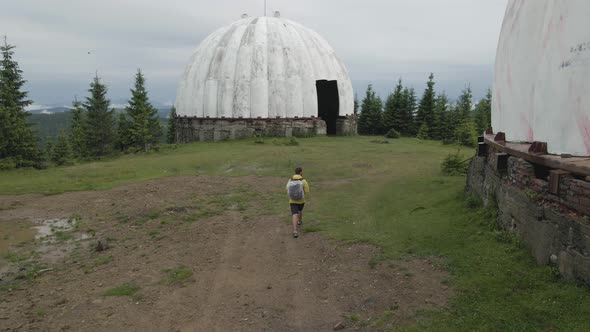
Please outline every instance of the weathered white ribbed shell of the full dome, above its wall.
[[247, 17], [201, 42], [175, 106], [196, 118], [317, 117], [321, 80], [337, 83], [338, 115], [352, 114], [348, 72], [325, 39], [284, 18]]

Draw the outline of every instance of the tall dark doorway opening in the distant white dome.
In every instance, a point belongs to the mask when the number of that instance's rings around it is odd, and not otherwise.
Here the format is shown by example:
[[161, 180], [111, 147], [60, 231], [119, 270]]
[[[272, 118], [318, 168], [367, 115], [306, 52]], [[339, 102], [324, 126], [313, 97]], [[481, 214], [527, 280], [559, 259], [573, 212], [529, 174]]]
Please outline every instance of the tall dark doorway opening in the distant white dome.
[[340, 111], [338, 81], [319, 80], [315, 82], [318, 92], [318, 116], [326, 122], [328, 135], [336, 135], [336, 121]]

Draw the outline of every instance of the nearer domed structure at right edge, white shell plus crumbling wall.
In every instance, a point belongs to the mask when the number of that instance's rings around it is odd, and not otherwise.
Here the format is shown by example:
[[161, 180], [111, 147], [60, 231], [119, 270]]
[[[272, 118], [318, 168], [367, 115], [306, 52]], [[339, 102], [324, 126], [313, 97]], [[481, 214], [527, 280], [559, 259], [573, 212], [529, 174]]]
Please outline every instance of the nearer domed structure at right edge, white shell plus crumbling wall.
[[[539, 264], [590, 285], [590, 1], [510, 0], [467, 190]], [[576, 157], [577, 156], [577, 157]]]

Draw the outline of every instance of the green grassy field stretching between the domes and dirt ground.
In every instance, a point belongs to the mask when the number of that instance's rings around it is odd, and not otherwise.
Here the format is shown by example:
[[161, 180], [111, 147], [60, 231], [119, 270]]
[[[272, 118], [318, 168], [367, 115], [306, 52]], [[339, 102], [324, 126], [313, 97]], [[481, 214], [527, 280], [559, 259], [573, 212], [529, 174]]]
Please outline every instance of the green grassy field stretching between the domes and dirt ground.
[[[306, 231], [374, 243], [385, 259], [441, 257], [456, 296], [444, 311], [423, 311], [406, 330], [532, 331], [588, 329], [590, 293], [538, 267], [520, 243], [493, 225], [494, 211], [463, 194], [464, 177], [440, 163], [457, 147], [415, 139], [342, 137], [195, 143], [42, 171], [0, 173], [0, 193], [98, 190], [175, 175], [279, 176], [303, 166], [311, 186]], [[466, 159], [473, 151], [461, 149]], [[268, 212], [283, 211], [284, 194]], [[469, 204], [466, 204], [468, 202]], [[282, 205], [281, 205], [282, 204]], [[285, 216], [285, 221], [288, 216]]]

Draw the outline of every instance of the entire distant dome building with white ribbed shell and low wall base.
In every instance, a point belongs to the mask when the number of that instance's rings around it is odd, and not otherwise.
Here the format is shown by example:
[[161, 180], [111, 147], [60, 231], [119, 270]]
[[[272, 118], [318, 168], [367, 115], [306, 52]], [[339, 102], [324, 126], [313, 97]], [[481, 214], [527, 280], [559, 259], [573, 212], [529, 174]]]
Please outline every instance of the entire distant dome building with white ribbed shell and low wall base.
[[356, 133], [346, 67], [315, 31], [247, 17], [210, 34], [176, 96], [177, 141]]

